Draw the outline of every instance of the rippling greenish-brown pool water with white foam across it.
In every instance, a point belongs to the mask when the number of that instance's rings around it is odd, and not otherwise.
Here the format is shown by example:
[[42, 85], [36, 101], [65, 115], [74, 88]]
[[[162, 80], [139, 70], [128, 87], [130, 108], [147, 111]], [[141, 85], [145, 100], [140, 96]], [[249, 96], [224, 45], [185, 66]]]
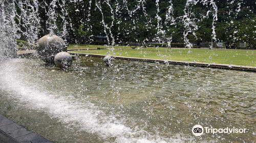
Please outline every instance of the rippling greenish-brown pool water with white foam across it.
[[[253, 142], [256, 74], [78, 57], [0, 63], [0, 110], [54, 142]], [[194, 125], [246, 133], [194, 136]]]

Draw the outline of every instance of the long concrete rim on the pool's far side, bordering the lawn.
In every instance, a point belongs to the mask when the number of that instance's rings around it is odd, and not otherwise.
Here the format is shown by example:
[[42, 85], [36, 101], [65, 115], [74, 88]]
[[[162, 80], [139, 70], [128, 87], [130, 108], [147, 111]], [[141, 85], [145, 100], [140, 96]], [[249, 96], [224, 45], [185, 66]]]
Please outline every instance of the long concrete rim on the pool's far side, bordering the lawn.
[[[86, 53], [76, 53], [69, 52], [72, 55], [80, 55], [80, 56], [89, 56], [89, 57], [105, 57], [105, 55], [100, 54], [86, 54]], [[199, 67], [209, 67], [209, 68], [220, 68], [220, 69], [230, 69], [230, 70], [241, 70], [241, 71], [252, 71], [256, 72], [255, 66], [243, 66], [243, 65], [229, 65], [229, 64], [209, 64], [209, 63], [201, 63], [201, 62], [184, 62], [184, 61], [173, 61], [173, 60], [159, 60], [159, 59], [147, 59], [147, 58], [134, 58], [134, 57], [122, 57], [122, 56], [112, 56], [115, 59], [121, 60], [130, 60], [130, 61], [143, 61], [143, 62], [152, 62], [152, 63], [169, 63], [176, 65], [188, 65], [188, 66], [199, 66]]]

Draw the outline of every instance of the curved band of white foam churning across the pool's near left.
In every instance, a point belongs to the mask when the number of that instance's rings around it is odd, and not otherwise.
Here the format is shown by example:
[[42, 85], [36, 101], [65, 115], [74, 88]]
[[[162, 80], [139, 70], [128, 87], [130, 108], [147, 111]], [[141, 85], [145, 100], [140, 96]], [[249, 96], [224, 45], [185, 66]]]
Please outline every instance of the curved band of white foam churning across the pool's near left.
[[115, 116], [105, 115], [90, 102], [80, 103], [72, 96], [42, 92], [36, 84], [28, 86], [26, 80], [21, 80], [26, 73], [19, 71], [23, 60], [13, 59], [0, 63], [0, 88], [13, 92], [13, 98], [28, 108], [45, 111], [63, 123], [96, 133], [102, 138], [115, 137], [115, 142], [182, 142], [181, 139], [163, 138], [127, 127]]

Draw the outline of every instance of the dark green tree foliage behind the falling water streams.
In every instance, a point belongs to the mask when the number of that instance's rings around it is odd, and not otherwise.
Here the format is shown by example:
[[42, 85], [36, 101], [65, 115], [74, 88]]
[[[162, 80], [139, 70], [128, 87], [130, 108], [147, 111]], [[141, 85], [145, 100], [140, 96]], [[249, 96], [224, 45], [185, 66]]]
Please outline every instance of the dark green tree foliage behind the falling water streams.
[[[48, 3], [50, 2], [51, 1]], [[119, 3], [119, 7], [117, 7], [117, 2]], [[97, 40], [96, 36], [108, 36], [110, 38], [109, 41], [114, 39], [115, 43], [152, 42], [155, 37], [162, 36], [163, 39], [172, 37], [173, 43], [184, 43], [183, 32], [185, 31], [185, 27], [182, 22], [182, 16], [184, 15], [186, 0], [172, 1], [173, 13], [171, 13], [171, 15], [176, 19], [174, 25], [172, 25], [168, 19], [166, 20], [166, 12], [168, 11], [170, 1], [159, 1], [160, 10], [158, 15], [161, 17], [159, 23], [161, 29], [166, 32], [164, 36], [157, 34], [159, 29], [157, 28], [158, 19], [156, 18], [156, 1], [146, 0], [144, 3], [145, 10], [143, 10], [140, 2], [143, 1], [92, 0], [91, 3], [90, 1], [68, 1], [66, 3], [68, 15], [64, 15], [69, 17], [67, 20], [70, 23], [70, 25], [67, 25], [67, 40], [73, 43], [94, 43]], [[246, 42], [247, 48], [255, 48], [255, 2], [246, 0], [233, 1], [233, 3], [222, 0], [217, 0], [215, 2], [218, 6], [218, 20], [215, 23], [217, 41], [225, 42], [227, 48], [238, 47], [240, 42]], [[61, 4], [62, 1], [57, 1], [57, 4], [58, 3]], [[101, 14], [99, 7], [101, 8], [103, 15]], [[131, 11], [136, 8], [138, 8], [138, 10], [131, 13]], [[191, 12], [193, 12], [191, 18], [194, 18], [196, 25], [199, 26], [198, 30], [195, 31], [196, 37], [192, 33], [189, 33], [187, 36], [189, 41], [197, 45], [201, 42], [211, 42], [212, 14], [214, 11], [212, 5], [209, 3], [206, 6], [202, 3], [198, 3], [197, 5], [189, 5], [189, 8], [191, 9]], [[39, 5], [39, 10], [39, 16], [41, 18], [40, 34], [45, 35], [49, 33], [46, 24], [48, 19], [46, 11], [49, 9], [42, 3]], [[203, 18], [209, 10], [208, 17]], [[61, 15], [61, 7], [56, 7], [56, 12], [59, 12], [59, 15]], [[102, 16], [104, 16], [103, 21]], [[105, 32], [103, 22], [110, 28], [105, 29]], [[57, 25], [59, 27], [63, 25], [60, 17], [57, 18]], [[113, 38], [111, 38], [111, 34], [113, 34]]]

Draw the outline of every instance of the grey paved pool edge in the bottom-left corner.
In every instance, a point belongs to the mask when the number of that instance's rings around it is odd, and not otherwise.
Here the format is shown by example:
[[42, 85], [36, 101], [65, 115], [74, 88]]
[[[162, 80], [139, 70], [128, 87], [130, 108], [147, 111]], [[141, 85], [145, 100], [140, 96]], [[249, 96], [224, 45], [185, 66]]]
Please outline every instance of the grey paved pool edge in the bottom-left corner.
[[0, 113], [0, 142], [1, 141], [10, 143], [52, 143], [52, 141], [16, 124]]

